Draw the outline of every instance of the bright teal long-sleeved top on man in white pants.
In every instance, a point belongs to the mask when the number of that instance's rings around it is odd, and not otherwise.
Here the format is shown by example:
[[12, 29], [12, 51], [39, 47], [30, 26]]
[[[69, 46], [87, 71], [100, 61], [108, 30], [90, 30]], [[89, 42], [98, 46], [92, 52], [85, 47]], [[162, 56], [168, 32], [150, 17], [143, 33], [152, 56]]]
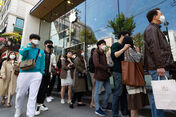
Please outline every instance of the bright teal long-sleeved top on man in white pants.
[[[22, 61], [36, 59], [38, 50], [39, 48], [38, 47], [33, 48], [31, 43], [29, 43], [27, 47], [21, 47], [19, 49], [19, 53], [22, 55]], [[45, 70], [45, 53], [43, 52], [43, 50], [40, 50], [38, 59], [36, 61], [36, 66], [33, 69], [25, 71], [20, 69], [20, 72], [41, 72], [42, 74], [44, 74], [44, 70]]]

